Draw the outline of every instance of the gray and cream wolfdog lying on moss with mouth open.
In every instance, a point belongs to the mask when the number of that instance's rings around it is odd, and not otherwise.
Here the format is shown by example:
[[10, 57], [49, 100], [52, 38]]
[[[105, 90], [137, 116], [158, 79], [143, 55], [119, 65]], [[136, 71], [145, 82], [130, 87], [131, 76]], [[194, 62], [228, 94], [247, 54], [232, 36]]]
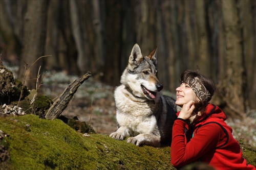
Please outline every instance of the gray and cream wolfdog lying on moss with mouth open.
[[176, 119], [175, 100], [162, 95], [157, 78], [157, 48], [143, 57], [138, 44], [133, 46], [129, 64], [115, 89], [118, 130], [110, 137], [136, 145], [160, 147], [170, 144]]

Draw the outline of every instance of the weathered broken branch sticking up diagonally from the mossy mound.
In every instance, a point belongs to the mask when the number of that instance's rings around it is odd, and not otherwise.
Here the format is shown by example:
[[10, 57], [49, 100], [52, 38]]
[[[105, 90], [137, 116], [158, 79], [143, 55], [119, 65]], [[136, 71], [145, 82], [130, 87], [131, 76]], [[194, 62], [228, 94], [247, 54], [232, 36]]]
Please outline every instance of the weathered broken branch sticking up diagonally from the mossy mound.
[[77, 80], [74, 80], [69, 86], [62, 92], [62, 94], [58, 97], [58, 99], [53, 103], [48, 112], [46, 113], [47, 119], [55, 119], [60, 116], [63, 110], [66, 109], [73, 95], [76, 93], [78, 87], [89, 77], [91, 76], [91, 72], [87, 72], [87, 74], [83, 75]]

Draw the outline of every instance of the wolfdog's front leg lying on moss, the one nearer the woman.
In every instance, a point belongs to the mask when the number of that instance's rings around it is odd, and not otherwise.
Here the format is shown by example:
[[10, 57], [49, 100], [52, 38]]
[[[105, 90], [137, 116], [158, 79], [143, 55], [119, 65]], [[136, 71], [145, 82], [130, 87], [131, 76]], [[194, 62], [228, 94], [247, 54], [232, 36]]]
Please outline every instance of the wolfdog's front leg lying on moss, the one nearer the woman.
[[142, 133], [135, 137], [130, 137], [126, 140], [128, 143], [136, 144], [137, 146], [140, 146], [141, 144], [151, 145], [153, 147], [160, 147], [160, 137], [148, 134], [148, 133]]

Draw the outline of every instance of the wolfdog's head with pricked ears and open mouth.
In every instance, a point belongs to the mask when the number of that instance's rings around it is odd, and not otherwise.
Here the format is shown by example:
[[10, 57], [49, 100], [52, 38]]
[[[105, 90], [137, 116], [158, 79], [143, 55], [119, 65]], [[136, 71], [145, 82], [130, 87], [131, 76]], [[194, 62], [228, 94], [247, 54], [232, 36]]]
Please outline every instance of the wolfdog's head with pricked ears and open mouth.
[[163, 89], [157, 78], [157, 48], [143, 57], [138, 44], [133, 46], [129, 64], [125, 68], [121, 83], [139, 98], [154, 100], [158, 91]]

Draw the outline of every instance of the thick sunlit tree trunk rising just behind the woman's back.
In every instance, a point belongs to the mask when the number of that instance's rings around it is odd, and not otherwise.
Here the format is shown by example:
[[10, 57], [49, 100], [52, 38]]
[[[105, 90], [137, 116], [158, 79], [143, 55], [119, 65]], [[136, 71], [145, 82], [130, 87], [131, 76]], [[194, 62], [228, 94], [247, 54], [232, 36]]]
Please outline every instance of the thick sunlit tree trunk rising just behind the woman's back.
[[221, 81], [219, 95], [227, 109], [235, 114], [245, 113], [244, 107], [244, 63], [241, 45], [241, 27], [236, 1], [221, 1], [226, 46], [226, 72]]

